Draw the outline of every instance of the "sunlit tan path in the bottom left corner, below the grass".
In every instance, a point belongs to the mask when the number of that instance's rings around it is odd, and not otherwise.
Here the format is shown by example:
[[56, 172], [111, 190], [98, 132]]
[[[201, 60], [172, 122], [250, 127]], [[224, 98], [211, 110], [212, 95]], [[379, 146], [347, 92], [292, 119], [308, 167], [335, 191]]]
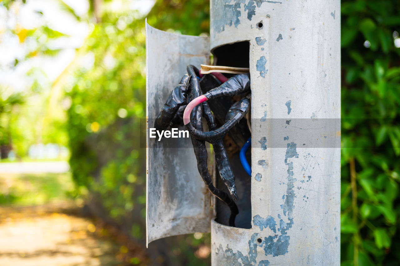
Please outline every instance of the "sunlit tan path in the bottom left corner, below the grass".
[[0, 265], [122, 265], [89, 220], [53, 206], [0, 207]]

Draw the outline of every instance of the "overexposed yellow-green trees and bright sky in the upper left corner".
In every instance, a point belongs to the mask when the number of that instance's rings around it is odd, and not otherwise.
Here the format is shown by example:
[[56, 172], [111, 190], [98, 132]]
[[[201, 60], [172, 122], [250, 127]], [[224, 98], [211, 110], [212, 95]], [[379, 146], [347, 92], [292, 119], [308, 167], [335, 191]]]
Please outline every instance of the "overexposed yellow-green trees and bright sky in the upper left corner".
[[9, 109], [1, 126], [18, 157], [26, 157], [33, 144], [68, 143], [69, 106], [60, 102], [60, 81], [83, 41], [82, 20], [62, 0], [0, 2], [0, 90], [3, 99], [10, 93], [24, 96], [24, 104]]

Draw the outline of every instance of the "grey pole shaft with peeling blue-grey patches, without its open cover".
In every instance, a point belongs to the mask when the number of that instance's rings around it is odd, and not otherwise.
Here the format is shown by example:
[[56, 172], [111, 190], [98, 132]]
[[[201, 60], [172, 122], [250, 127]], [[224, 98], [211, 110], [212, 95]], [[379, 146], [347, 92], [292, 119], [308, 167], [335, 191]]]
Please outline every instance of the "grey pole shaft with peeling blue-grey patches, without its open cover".
[[250, 42], [252, 89], [252, 228], [212, 221], [212, 265], [339, 265], [340, 1], [211, 0], [210, 24]]

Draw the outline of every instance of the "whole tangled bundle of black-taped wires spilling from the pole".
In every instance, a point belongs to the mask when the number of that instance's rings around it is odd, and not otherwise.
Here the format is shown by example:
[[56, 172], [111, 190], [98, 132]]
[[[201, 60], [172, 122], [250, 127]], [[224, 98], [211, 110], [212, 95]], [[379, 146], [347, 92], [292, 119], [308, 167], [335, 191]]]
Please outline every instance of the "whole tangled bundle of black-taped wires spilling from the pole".
[[[191, 135], [198, 171], [209, 191], [229, 206], [231, 212], [229, 225], [235, 226], [235, 218], [239, 211], [231, 197], [234, 200], [238, 200], [238, 195], [235, 177], [222, 138], [248, 111], [250, 105], [250, 74], [238, 74], [228, 80], [222, 74], [222, 77], [217, 75], [216, 77], [224, 83], [202, 95], [199, 77], [203, 75], [192, 65], [187, 67], [187, 72], [188, 74], [182, 77], [180, 83], [168, 96], [160, 114], [156, 118], [154, 127], [157, 130], [165, 130], [172, 124], [180, 124], [183, 120], [186, 129]], [[217, 128], [214, 115], [207, 101], [221, 96], [232, 97], [239, 94], [242, 94], [242, 99], [230, 107], [226, 114], [224, 125]], [[210, 129], [208, 132], [203, 131], [202, 117], [207, 121]], [[224, 191], [214, 187], [212, 183], [207, 167], [208, 155], [205, 141], [211, 143], [214, 148], [220, 177], [228, 188], [231, 197]]]

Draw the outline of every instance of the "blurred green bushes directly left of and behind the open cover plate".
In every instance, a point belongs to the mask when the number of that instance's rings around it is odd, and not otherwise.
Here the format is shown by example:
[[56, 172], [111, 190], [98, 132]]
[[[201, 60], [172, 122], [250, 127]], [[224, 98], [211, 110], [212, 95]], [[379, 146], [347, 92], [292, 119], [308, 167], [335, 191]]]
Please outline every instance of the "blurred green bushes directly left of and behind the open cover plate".
[[[196, 16], [188, 10], [196, 10]], [[157, 1], [147, 18], [162, 30], [199, 35], [208, 32], [208, 12], [207, 1]], [[192, 19], [185, 24], [188, 16]], [[146, 99], [144, 18], [132, 10], [104, 11], [98, 21], [79, 51], [82, 67], [66, 87], [72, 102], [70, 165], [78, 193], [86, 195], [92, 210], [144, 241], [146, 144], [140, 143], [139, 131]], [[168, 259], [174, 265], [206, 265], [209, 252], [200, 260], [195, 256], [204, 241], [209, 244], [209, 236], [170, 238]]]

